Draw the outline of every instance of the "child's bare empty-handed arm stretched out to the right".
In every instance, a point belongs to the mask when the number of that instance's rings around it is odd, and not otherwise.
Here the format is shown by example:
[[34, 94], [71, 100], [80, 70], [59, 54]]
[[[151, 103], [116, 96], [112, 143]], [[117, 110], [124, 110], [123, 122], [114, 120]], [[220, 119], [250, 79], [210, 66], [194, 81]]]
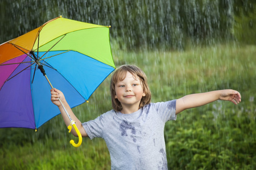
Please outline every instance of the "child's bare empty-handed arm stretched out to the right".
[[176, 100], [176, 114], [185, 109], [200, 107], [218, 99], [238, 104], [241, 101], [241, 95], [235, 90], [217, 90], [201, 94], [187, 95]]

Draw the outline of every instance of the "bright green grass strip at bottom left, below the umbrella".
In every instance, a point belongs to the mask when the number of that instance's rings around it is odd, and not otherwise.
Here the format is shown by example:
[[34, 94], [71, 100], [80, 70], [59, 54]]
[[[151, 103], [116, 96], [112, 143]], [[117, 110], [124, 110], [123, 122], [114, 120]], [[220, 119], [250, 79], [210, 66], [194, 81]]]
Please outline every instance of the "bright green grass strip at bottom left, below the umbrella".
[[60, 139], [23, 146], [7, 143], [0, 151], [1, 169], [109, 169], [109, 154], [102, 142], [84, 139], [79, 148], [66, 143]]

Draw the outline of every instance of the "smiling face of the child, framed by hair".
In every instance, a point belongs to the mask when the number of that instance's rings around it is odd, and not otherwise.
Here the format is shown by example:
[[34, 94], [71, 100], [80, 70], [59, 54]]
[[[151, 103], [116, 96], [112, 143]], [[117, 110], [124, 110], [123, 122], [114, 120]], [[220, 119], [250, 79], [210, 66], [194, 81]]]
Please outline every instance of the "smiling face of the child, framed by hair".
[[141, 81], [138, 77], [134, 78], [129, 71], [126, 72], [125, 79], [115, 84], [115, 94], [115, 99], [120, 101], [123, 108], [139, 108], [139, 103], [145, 96]]

